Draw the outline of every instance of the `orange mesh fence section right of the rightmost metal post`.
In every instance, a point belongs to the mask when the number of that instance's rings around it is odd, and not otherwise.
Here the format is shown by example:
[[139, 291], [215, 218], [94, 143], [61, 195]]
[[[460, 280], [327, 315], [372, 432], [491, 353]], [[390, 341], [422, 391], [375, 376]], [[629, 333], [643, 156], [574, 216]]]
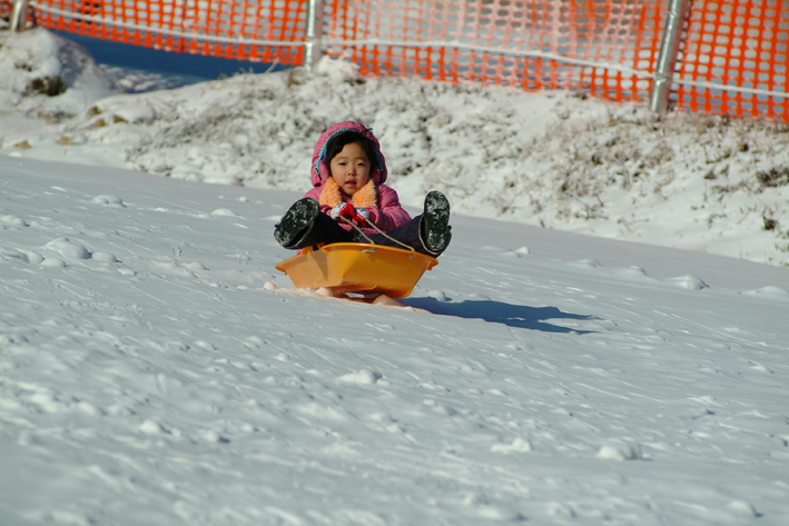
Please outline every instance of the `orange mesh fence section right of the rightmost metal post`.
[[[672, 102], [694, 112], [789, 122], [789, 0], [694, 2]], [[723, 91], [733, 86], [760, 93]]]

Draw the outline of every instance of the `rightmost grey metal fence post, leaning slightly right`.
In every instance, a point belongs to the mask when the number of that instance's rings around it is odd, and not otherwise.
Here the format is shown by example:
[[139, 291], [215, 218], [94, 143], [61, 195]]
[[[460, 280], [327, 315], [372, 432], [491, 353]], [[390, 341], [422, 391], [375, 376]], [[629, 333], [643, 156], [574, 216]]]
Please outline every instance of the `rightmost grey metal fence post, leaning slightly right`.
[[658, 64], [654, 69], [654, 82], [652, 82], [652, 91], [649, 96], [649, 109], [661, 116], [665, 113], [665, 109], [669, 107], [671, 81], [674, 77], [677, 53], [680, 49], [682, 28], [688, 18], [689, 7], [690, 0], [671, 0], [669, 4], [663, 41], [660, 43]]

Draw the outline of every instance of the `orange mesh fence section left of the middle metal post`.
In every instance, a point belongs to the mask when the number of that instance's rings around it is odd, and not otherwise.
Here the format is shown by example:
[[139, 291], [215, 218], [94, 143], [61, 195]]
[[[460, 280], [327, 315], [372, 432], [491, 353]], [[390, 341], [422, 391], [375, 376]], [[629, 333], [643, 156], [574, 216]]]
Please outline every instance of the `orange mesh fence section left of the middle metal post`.
[[40, 8], [39, 24], [87, 37], [250, 62], [304, 61], [304, 1], [38, 0], [30, 6]]

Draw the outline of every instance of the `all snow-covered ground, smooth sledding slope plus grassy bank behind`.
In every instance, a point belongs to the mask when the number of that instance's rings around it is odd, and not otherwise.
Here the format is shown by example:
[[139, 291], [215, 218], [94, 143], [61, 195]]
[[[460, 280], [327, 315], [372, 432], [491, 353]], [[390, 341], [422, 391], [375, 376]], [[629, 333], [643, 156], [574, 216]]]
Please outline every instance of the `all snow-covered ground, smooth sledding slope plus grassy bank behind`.
[[[785, 127], [0, 46], [1, 525], [789, 522]], [[405, 309], [274, 268], [346, 118], [466, 214]]]

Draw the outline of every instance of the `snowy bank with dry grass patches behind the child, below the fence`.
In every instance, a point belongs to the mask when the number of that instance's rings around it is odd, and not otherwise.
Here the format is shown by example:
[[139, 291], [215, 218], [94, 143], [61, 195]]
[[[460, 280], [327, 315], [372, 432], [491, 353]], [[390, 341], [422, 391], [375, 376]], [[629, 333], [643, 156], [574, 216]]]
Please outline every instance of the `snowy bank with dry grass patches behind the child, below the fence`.
[[355, 119], [379, 137], [404, 202], [789, 265], [789, 128], [659, 120], [573, 93], [358, 78], [342, 61], [120, 95], [0, 152], [191, 181], [304, 191], [317, 136]]

